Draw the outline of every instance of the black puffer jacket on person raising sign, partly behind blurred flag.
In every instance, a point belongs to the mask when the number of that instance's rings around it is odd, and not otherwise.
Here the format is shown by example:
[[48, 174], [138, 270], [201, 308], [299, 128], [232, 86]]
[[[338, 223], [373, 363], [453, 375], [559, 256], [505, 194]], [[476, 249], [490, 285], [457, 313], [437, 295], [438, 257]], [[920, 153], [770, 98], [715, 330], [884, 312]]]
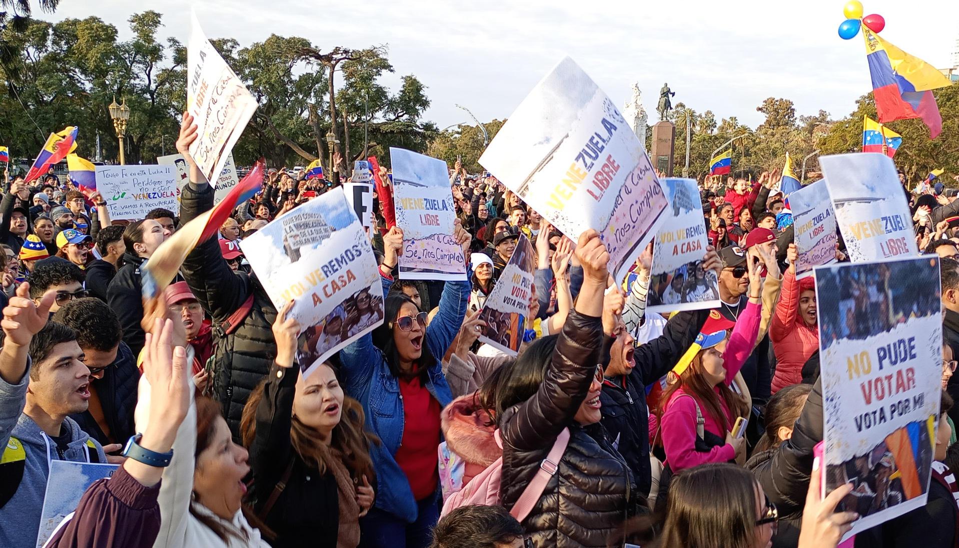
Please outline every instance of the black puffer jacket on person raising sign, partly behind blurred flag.
[[[180, 195], [182, 224], [211, 208], [213, 188], [209, 184], [191, 182], [183, 187]], [[213, 393], [222, 406], [233, 437], [239, 439], [246, 398], [269, 372], [276, 357], [272, 332], [276, 308], [255, 277], [237, 274], [230, 269], [215, 237], [190, 252], [183, 261], [181, 272], [203, 310], [213, 318], [217, 336], [217, 353], [211, 371]], [[240, 309], [250, 295], [253, 296], [253, 306], [249, 314], [231, 334], [224, 335], [222, 323]]]

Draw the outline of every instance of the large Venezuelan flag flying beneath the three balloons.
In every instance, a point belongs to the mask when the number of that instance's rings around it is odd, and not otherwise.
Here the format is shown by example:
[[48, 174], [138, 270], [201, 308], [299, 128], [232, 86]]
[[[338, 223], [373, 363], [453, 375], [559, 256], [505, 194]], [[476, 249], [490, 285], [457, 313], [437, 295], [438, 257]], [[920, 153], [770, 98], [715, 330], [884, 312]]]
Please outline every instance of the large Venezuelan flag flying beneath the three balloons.
[[946, 87], [949, 80], [931, 64], [903, 52], [865, 26], [862, 36], [879, 122], [922, 118], [929, 138], [935, 139], [943, 131], [943, 118], [931, 90]]

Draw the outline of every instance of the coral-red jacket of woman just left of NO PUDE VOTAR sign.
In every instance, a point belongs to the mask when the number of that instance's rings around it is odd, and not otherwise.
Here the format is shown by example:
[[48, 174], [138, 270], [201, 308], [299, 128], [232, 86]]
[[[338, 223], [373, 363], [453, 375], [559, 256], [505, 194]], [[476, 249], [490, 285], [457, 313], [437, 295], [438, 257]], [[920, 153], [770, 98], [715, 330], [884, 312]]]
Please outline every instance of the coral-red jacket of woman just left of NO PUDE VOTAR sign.
[[799, 296], [813, 289], [812, 277], [801, 280], [789, 269], [783, 275], [783, 291], [769, 325], [769, 338], [776, 352], [776, 374], [772, 393], [803, 380], [803, 365], [819, 349], [819, 326], [809, 326], [799, 316]]

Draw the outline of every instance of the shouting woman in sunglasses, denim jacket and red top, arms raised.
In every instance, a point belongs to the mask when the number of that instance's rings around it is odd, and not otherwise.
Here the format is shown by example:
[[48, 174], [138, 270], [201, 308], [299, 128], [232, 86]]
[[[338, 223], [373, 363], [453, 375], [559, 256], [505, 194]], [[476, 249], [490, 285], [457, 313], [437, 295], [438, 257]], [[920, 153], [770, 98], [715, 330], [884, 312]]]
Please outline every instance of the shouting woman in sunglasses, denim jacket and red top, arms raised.
[[[470, 235], [458, 219], [454, 226], [465, 253]], [[386, 321], [339, 353], [346, 393], [363, 404], [366, 429], [383, 441], [370, 450], [377, 497], [361, 519], [361, 545], [420, 548], [429, 546], [439, 517], [440, 411], [453, 400], [440, 359], [466, 315], [470, 284], [446, 282], [427, 328], [426, 312], [405, 294], [389, 292], [403, 231], [394, 226], [383, 240]]]

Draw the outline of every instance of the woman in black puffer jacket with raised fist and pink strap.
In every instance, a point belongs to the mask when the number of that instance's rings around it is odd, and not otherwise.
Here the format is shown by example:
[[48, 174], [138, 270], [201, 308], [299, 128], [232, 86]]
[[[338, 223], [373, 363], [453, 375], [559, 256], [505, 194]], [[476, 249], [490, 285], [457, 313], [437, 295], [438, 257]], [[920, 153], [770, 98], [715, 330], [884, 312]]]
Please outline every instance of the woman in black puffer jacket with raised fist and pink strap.
[[[507, 510], [541, 465], [555, 470], [522, 521], [537, 547], [605, 546], [637, 506], [629, 466], [599, 424], [609, 253], [596, 231], [587, 230], [575, 254], [584, 271], [575, 309], [559, 335], [535, 341], [503, 370], [492, 413], [503, 441], [500, 495]], [[561, 435], [569, 436], [562, 458], [545, 464]]]

